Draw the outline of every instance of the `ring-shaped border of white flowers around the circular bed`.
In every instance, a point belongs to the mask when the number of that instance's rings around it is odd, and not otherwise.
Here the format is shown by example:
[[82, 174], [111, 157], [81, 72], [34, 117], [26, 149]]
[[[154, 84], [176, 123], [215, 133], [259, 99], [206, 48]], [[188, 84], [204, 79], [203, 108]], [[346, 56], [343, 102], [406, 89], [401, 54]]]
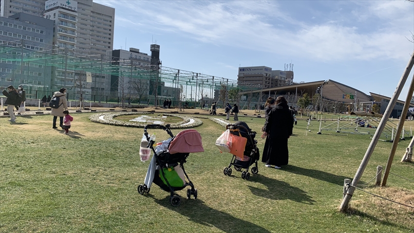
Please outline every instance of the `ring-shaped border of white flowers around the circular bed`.
[[[136, 115], [136, 114], [148, 114], [148, 112], [103, 112], [99, 114], [93, 114], [89, 116], [89, 120], [91, 122], [107, 124], [107, 125], [117, 125], [117, 126], [126, 126], [126, 127], [140, 127], [144, 128], [148, 124], [142, 124], [139, 122], [125, 122], [125, 121], [118, 121], [114, 119], [114, 116], [119, 115]], [[153, 113], [150, 113], [153, 114]], [[175, 116], [177, 118], [181, 118], [182, 121], [170, 124], [171, 129], [183, 129], [183, 128], [193, 128], [201, 125], [203, 122], [199, 119], [194, 119], [189, 116], [182, 116], [177, 114], [167, 114], [164, 113], [163, 115], [166, 116]], [[161, 124], [165, 125], [165, 124]]]

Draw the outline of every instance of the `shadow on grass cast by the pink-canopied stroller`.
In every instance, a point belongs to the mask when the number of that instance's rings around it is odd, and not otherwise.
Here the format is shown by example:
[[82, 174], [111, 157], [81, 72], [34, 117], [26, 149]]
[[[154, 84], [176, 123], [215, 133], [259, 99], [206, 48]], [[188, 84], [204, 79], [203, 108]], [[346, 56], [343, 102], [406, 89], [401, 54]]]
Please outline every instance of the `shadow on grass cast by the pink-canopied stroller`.
[[181, 205], [174, 207], [170, 204], [170, 196], [156, 203], [187, 217], [190, 221], [207, 227], [216, 227], [224, 232], [270, 232], [254, 223], [235, 218], [229, 213], [206, 206], [201, 200], [181, 198]]

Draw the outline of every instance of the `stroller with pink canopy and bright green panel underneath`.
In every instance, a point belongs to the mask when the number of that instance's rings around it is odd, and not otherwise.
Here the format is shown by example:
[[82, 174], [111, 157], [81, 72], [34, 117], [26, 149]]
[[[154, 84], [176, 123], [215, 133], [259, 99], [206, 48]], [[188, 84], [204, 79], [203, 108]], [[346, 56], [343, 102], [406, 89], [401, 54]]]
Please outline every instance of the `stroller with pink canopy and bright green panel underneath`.
[[[154, 148], [154, 141], [148, 137], [148, 128], [163, 129], [171, 138]], [[165, 127], [162, 125], [147, 125], [144, 128], [144, 135], [148, 141], [147, 148], [153, 150], [154, 156], [149, 164], [144, 185], [138, 185], [138, 193], [141, 195], [148, 193], [152, 183], [155, 183], [161, 189], [171, 193], [170, 203], [173, 206], [179, 206], [181, 198], [175, 191], [190, 186], [191, 188], [187, 189], [187, 198], [190, 199], [193, 195], [194, 199], [197, 199], [197, 189], [194, 188], [189, 176], [185, 173], [183, 164], [186, 163], [190, 153], [204, 151], [200, 133], [194, 129], [186, 129], [174, 137], [170, 125]]]

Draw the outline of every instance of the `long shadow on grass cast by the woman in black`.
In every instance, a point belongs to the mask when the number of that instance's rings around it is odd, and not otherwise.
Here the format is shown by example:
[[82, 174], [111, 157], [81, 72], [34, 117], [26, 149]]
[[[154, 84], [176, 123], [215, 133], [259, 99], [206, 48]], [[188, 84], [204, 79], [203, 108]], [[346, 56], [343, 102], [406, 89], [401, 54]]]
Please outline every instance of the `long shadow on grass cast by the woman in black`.
[[326, 181], [332, 184], [341, 185], [341, 186], [344, 185], [345, 179], [352, 180], [352, 178], [349, 178], [349, 177], [338, 176], [336, 174], [328, 173], [325, 171], [319, 171], [319, 170], [308, 169], [308, 168], [303, 168], [303, 167], [296, 167], [293, 165], [286, 165], [283, 167], [283, 170], [287, 172], [292, 172], [295, 174], [300, 174], [302, 176], [311, 177], [317, 180]]

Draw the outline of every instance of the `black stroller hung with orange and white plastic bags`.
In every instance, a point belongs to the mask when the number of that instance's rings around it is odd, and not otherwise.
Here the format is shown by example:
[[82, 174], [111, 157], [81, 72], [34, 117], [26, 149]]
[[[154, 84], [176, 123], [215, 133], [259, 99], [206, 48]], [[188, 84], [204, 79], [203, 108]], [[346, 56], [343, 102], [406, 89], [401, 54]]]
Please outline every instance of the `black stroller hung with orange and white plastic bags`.
[[235, 135], [241, 134], [241, 137], [247, 138], [246, 146], [244, 147], [243, 158], [238, 158], [233, 154], [232, 161], [230, 162], [228, 167], [225, 167], [223, 173], [227, 176], [231, 176], [232, 174], [232, 165], [236, 171], [241, 171], [242, 169], [246, 169], [245, 171], [241, 172], [241, 178], [249, 180], [250, 173], [249, 167], [252, 164], [255, 164], [252, 167], [251, 171], [252, 174], [259, 173], [259, 169], [257, 168], [257, 161], [259, 160], [260, 153], [259, 149], [257, 148], [257, 140], [254, 140], [256, 136], [256, 132], [252, 131], [246, 122], [238, 121], [234, 124], [229, 124], [225, 127], [226, 129], [230, 129], [230, 132]]

